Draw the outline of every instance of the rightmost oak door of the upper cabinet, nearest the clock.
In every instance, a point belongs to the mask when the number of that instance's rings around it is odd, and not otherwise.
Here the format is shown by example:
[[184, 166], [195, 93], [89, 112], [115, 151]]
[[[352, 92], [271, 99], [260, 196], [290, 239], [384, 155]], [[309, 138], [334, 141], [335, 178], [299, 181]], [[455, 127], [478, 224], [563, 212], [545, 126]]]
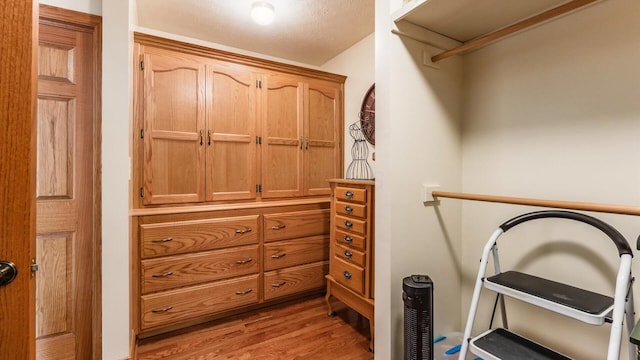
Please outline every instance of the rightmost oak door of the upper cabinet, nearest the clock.
[[340, 85], [310, 81], [305, 86], [304, 195], [328, 195], [328, 179], [342, 175]]

